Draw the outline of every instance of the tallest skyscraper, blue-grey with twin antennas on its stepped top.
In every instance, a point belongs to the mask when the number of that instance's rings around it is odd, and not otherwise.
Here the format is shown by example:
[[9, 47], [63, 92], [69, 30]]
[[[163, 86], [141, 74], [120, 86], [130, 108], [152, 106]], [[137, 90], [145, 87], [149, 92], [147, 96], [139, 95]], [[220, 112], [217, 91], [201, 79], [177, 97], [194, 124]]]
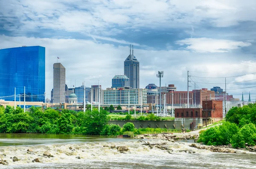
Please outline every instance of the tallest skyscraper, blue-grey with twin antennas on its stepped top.
[[140, 62], [133, 55], [133, 46], [132, 46], [132, 53], [131, 53], [131, 45], [130, 45], [130, 55], [126, 58], [124, 62], [124, 74], [130, 80], [131, 89], [140, 88]]

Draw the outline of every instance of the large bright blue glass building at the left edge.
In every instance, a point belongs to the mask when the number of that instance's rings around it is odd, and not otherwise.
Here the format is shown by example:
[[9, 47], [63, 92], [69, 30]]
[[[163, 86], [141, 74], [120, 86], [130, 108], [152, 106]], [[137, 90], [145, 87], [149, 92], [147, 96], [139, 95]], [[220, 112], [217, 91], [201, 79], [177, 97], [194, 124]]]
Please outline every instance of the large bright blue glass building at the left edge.
[[16, 95], [22, 95], [24, 86], [26, 101], [44, 101], [45, 48], [23, 46], [0, 49], [0, 99], [13, 101], [15, 87]]

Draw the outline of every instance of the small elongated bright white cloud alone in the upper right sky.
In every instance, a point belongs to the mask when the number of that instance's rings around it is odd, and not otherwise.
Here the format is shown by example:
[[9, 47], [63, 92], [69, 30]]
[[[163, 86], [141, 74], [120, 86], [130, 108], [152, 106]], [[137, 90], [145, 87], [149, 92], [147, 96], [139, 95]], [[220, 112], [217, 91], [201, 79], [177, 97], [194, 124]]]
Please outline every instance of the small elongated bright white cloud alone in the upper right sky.
[[186, 49], [195, 52], [230, 52], [231, 50], [251, 45], [249, 42], [211, 39], [205, 37], [187, 38], [184, 40], [178, 40], [176, 43], [181, 46], [187, 45]]

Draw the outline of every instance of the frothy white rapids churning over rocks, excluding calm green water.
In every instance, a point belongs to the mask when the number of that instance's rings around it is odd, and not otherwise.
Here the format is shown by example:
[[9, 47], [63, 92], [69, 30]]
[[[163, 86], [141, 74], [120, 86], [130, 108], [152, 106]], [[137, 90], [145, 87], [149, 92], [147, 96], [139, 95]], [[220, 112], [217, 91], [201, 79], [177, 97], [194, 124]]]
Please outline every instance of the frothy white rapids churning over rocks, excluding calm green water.
[[[250, 168], [254, 166], [251, 159], [255, 153], [251, 154], [226, 154], [213, 153], [204, 149], [196, 149], [190, 147], [190, 143], [172, 143], [166, 140], [150, 140], [151, 144], [166, 143], [173, 151], [169, 154], [166, 150], [161, 150], [156, 147], [150, 149], [149, 146], [143, 145], [140, 141], [126, 141], [126, 142], [90, 142], [90, 143], [76, 143], [76, 144], [51, 144], [51, 145], [36, 145], [36, 146], [6, 146], [5, 154], [0, 156], [3, 160], [7, 160], [9, 166], [1, 165], [0, 168], [46, 168], [57, 169], [59, 166], [74, 166], [79, 169], [81, 164], [93, 163], [94, 168], [102, 168], [104, 166], [112, 166], [112, 168], [122, 168], [125, 166], [137, 166], [140, 168], [147, 166], [147, 168]], [[117, 149], [110, 147], [103, 147], [103, 145], [111, 146], [128, 146], [128, 152], [119, 152]], [[73, 149], [70, 150], [69, 148]], [[35, 155], [28, 154], [27, 149], [32, 149]], [[196, 153], [180, 152], [180, 150], [192, 150]], [[49, 151], [53, 158], [43, 156], [44, 152]], [[11, 157], [16, 156], [19, 161], [12, 162]], [[76, 157], [81, 159], [77, 159]], [[250, 158], [249, 158], [250, 157]], [[32, 163], [32, 160], [39, 158], [41, 163]], [[104, 165], [105, 164], [105, 165]], [[92, 167], [93, 167], [92, 166]], [[72, 167], [71, 167], [72, 168]]]

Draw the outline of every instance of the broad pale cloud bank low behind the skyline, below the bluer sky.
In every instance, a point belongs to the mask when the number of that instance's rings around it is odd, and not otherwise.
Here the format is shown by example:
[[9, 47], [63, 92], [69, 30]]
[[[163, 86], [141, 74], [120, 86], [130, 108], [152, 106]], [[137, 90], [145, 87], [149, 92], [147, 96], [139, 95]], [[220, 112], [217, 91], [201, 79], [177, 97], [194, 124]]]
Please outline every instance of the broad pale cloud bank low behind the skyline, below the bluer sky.
[[[90, 40], [79, 39], [50, 39], [35, 37], [8, 37], [0, 36], [0, 49], [16, 46], [46, 47], [46, 92], [49, 94], [52, 89], [52, 64], [57, 56], [60, 62], [66, 67], [67, 85], [81, 85], [85, 80], [88, 86], [96, 84], [97, 80], [103, 88], [111, 86], [111, 79], [115, 74], [123, 74], [123, 62], [129, 54], [129, 46], [113, 46], [111, 44], [95, 43]], [[179, 50], [143, 50], [134, 49], [134, 54], [140, 61], [140, 86], [145, 87], [148, 83], [159, 85], [156, 77], [157, 71], [164, 71], [163, 84], [175, 84], [178, 90], [186, 90], [187, 70], [209, 73], [191, 72], [195, 76], [203, 77], [225, 77], [238, 74], [256, 72], [256, 65], [253, 55], [241, 53], [218, 53], [204, 54], [192, 53]], [[207, 58], [207, 60], [206, 60]], [[232, 59], [230, 59], [232, 58]], [[221, 60], [221, 62], [220, 62]], [[244, 62], [243, 62], [244, 61]], [[228, 63], [228, 64], [227, 64]], [[245, 66], [250, 65], [246, 69]], [[237, 70], [234, 70], [236, 69]], [[233, 70], [225, 72], [227, 70]], [[215, 73], [218, 72], [218, 73]], [[193, 77], [198, 81], [198, 86], [212, 88], [215, 84], [223, 83], [223, 79], [201, 79]], [[235, 78], [228, 79], [233, 82]], [[236, 84], [227, 86], [228, 89], [241, 88], [249, 84]], [[224, 87], [224, 85], [220, 85]], [[250, 85], [249, 85], [250, 86]], [[193, 87], [192, 87], [193, 88]], [[191, 89], [192, 89], [191, 88]], [[230, 94], [240, 95], [242, 91], [229, 91]], [[250, 90], [253, 92], [253, 90]], [[256, 92], [256, 91], [255, 91]]]

